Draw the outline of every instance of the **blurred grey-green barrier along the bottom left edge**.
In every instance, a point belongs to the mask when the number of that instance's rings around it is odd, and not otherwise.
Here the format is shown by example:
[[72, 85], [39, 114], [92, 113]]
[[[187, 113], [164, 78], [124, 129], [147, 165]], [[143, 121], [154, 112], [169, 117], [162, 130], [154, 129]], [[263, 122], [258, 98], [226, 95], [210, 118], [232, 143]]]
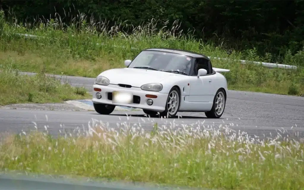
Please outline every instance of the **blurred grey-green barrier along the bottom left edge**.
[[183, 188], [168, 187], [152, 184], [136, 184], [122, 182], [105, 182], [66, 178], [63, 176], [52, 177], [50, 175], [26, 175], [17, 173], [0, 174], [0, 190], [165, 190], [165, 189], [202, 189], [207, 188]]

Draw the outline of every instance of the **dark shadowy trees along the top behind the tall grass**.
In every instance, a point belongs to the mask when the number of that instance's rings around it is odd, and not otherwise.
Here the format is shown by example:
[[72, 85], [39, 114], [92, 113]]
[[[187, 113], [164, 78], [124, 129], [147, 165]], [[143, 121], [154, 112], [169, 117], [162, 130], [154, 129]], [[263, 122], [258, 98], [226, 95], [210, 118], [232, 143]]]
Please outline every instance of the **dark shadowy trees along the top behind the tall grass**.
[[79, 26], [95, 23], [94, 30], [99, 20], [93, 18], [99, 18], [107, 27], [124, 21], [121, 27], [129, 34], [133, 33], [132, 25], [143, 25], [152, 18], [168, 21], [169, 26], [178, 20], [178, 31], [187, 33], [190, 29], [204, 43], [213, 42], [227, 51], [256, 47], [259, 56], [272, 55], [268, 56], [270, 62], [286, 61], [284, 55], [297, 54], [304, 43], [304, 1], [34, 0], [2, 1], [0, 6], [16, 23], [33, 24], [60, 17], [61, 22], [71, 26], [76, 17], [83, 22], [73, 27], [81, 30]]

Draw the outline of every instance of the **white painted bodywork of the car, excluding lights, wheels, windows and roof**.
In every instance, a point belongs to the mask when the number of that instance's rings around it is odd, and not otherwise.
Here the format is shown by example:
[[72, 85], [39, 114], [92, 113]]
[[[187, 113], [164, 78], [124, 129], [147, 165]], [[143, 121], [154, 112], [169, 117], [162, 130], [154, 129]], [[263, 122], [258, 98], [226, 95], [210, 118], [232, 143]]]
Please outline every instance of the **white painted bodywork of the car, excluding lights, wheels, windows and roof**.
[[[219, 68], [217, 69], [221, 72]], [[102, 95], [102, 98], [95, 98], [97, 92], [93, 91], [92, 102], [154, 110], [158, 112], [163, 112], [165, 110], [168, 93], [173, 86], [178, 86], [181, 92], [179, 112], [210, 111], [217, 90], [219, 88], [224, 88], [227, 92], [226, 78], [218, 72], [211, 75], [200, 76], [198, 78], [197, 76], [187, 76], [148, 69], [116, 68], [103, 71], [98, 76], [108, 78], [110, 84], [106, 86], [94, 84], [93, 88], [102, 89], [102, 91], [99, 92]], [[160, 92], [144, 91], [140, 89], [141, 85], [148, 83], [161, 83], [163, 89]], [[118, 86], [118, 84], [131, 85], [132, 87], [124, 88]], [[112, 100], [108, 99], [107, 95], [108, 92], [112, 91], [130, 92], [133, 95], [140, 97], [140, 103], [114, 104], [112, 103]], [[150, 98], [154, 102], [153, 105], [147, 105], [147, 99], [149, 99], [145, 97], [147, 94], [157, 95], [157, 98]]]

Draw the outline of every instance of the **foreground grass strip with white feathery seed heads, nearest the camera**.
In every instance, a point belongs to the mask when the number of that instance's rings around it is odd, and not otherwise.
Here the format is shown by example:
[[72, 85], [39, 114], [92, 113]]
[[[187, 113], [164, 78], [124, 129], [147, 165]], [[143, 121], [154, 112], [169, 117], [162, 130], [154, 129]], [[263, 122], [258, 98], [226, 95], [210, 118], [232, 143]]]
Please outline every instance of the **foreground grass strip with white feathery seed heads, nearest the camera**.
[[37, 130], [6, 136], [0, 143], [0, 168], [188, 187], [304, 186], [303, 139], [282, 141], [286, 130], [270, 140], [259, 140], [233, 133], [228, 125], [173, 122], [155, 124], [150, 133], [138, 124], [118, 126], [121, 129], [116, 131], [94, 121], [72, 134], [61, 129], [58, 138], [35, 126]]

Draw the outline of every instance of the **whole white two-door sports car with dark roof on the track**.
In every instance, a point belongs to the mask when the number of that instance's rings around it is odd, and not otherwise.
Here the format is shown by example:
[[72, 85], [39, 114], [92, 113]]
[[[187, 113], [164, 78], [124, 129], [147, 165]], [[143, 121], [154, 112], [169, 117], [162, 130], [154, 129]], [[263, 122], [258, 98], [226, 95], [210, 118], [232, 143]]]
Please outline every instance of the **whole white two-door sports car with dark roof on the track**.
[[174, 117], [177, 112], [205, 112], [220, 118], [226, 104], [227, 81], [208, 57], [195, 52], [151, 48], [126, 68], [100, 73], [93, 85], [93, 105], [110, 114], [116, 105], [143, 109], [150, 116]]

